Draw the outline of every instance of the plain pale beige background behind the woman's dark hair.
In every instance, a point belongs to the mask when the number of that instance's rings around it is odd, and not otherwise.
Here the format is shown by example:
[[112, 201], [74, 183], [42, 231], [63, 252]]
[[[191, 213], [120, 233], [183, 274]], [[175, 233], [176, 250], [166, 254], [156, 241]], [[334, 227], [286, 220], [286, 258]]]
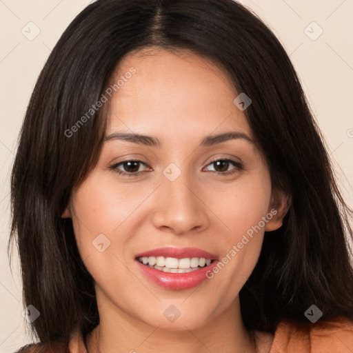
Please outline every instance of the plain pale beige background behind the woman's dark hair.
[[[89, 3], [0, 0], [0, 352], [12, 353], [29, 342], [21, 316], [19, 265], [14, 261], [12, 275], [7, 255], [10, 168], [17, 136], [34, 83], [50, 51]], [[353, 207], [353, 0], [241, 3], [268, 23], [290, 54], [327, 141], [343, 195]]]

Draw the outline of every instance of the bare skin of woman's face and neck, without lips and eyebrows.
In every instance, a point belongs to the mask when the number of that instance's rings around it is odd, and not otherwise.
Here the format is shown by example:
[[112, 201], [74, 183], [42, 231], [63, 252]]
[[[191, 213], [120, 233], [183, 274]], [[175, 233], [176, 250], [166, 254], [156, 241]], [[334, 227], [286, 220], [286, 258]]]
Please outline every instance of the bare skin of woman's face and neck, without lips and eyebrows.
[[[106, 135], [145, 134], [158, 138], [161, 148], [105, 141], [96, 167], [63, 213], [72, 218], [97, 292], [101, 323], [86, 337], [88, 352], [97, 352], [97, 345], [105, 353], [268, 352], [273, 336], [257, 332], [252, 341], [238, 294], [259, 259], [265, 230], [281, 226], [287, 197], [272, 190], [268, 165], [254, 143], [232, 139], [199, 147], [203, 137], [229, 131], [253, 139], [233, 103], [238, 94], [216, 65], [194, 54], [135, 52], [112, 81], [131, 67], [137, 72], [108, 103]], [[138, 177], [117, 174], [131, 172], [126, 164], [110, 169], [131, 159], [145, 163], [137, 165], [144, 171]], [[224, 159], [243, 169], [212, 163]], [[175, 181], [163, 174], [170, 163], [181, 170]], [[137, 266], [137, 253], [163, 246], [201, 248], [221, 259], [273, 208], [276, 216], [196, 288], [161, 288]], [[98, 234], [110, 239], [104, 252], [92, 246]], [[181, 312], [173, 323], [163, 315], [170, 305]]]

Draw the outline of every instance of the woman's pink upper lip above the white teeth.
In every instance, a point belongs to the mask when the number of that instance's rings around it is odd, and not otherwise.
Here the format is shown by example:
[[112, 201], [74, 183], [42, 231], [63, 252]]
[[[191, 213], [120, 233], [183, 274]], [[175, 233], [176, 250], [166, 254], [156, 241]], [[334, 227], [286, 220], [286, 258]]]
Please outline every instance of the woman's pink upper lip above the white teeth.
[[217, 256], [211, 254], [202, 249], [198, 248], [172, 248], [170, 246], [165, 248], [157, 248], [153, 250], [148, 250], [146, 252], [140, 252], [136, 257], [148, 257], [148, 256], [164, 256], [164, 257], [174, 257], [175, 259], [185, 259], [192, 257], [203, 257], [204, 259], [216, 260]]

